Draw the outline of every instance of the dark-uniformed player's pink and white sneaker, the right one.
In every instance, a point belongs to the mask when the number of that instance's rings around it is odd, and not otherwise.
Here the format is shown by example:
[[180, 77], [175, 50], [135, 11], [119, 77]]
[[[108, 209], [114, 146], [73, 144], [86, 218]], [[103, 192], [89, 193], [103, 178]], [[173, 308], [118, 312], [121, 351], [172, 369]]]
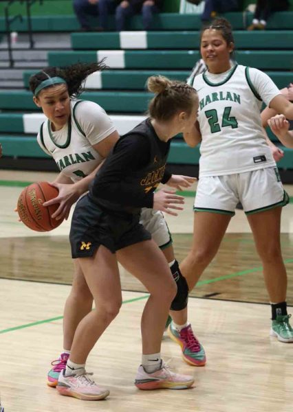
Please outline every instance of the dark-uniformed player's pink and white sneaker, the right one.
[[153, 389], [187, 389], [194, 383], [192, 376], [175, 374], [162, 361], [161, 369], [148, 374], [142, 365], [138, 368], [135, 378], [135, 386], [144, 391]]

